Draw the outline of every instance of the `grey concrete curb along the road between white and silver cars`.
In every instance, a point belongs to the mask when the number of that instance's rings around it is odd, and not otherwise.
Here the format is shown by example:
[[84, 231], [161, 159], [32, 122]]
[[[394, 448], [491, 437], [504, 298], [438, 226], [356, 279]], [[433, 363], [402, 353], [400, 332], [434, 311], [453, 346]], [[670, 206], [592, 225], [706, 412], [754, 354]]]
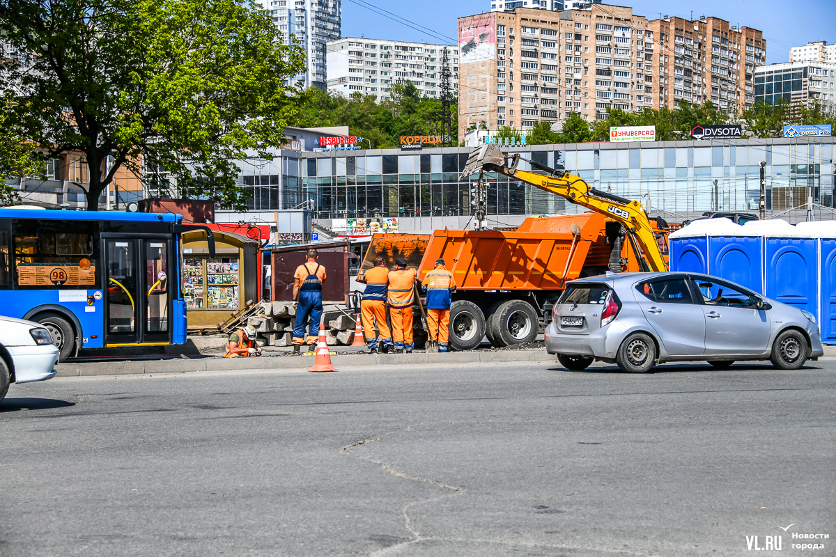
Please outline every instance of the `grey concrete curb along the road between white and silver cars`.
[[[540, 362], [553, 359], [545, 350], [507, 350], [446, 352], [427, 354], [339, 354], [331, 363], [340, 366], [404, 366], [478, 362]], [[153, 373], [215, 372], [245, 369], [292, 369], [305, 371], [314, 365], [314, 356], [225, 358], [205, 357], [196, 360], [170, 359], [144, 362], [59, 363], [55, 377], [96, 375], [142, 375]]]

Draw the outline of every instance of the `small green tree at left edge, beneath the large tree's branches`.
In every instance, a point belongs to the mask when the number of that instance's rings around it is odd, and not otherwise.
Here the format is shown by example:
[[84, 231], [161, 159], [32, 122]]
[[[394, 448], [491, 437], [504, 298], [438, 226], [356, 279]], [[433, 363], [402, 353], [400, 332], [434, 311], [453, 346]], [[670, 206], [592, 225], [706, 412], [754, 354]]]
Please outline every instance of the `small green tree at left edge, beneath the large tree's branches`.
[[4, 99], [0, 99], [0, 206], [18, 205], [18, 190], [6, 185], [6, 180], [26, 176], [43, 177], [43, 156], [28, 142], [23, 130], [13, 124], [13, 113]]

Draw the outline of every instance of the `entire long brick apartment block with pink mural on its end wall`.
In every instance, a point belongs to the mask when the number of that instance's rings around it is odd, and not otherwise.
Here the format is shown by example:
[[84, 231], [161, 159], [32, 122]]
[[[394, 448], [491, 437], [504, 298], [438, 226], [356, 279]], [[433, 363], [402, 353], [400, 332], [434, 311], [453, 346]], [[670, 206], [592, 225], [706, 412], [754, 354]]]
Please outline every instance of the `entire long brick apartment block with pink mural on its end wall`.
[[648, 21], [608, 4], [514, 8], [458, 23], [459, 137], [473, 124], [526, 130], [571, 113], [591, 122], [608, 108], [673, 108], [679, 99], [716, 99], [739, 112], [752, 104], [753, 70], [766, 56], [756, 29], [718, 18]]

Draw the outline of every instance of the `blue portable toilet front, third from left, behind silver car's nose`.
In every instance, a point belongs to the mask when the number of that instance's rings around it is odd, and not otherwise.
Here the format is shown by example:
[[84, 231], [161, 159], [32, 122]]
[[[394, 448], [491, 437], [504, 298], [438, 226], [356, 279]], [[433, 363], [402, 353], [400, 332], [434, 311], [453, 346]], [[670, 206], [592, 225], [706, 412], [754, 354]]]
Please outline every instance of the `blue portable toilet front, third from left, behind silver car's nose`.
[[816, 242], [813, 238], [767, 237], [768, 298], [818, 313]]

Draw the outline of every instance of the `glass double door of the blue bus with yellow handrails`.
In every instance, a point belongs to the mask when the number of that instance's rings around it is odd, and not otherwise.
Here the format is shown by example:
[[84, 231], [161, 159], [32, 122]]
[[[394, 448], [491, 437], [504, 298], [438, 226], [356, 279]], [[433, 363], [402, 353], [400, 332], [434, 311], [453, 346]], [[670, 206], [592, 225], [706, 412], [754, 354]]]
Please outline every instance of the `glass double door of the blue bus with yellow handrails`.
[[171, 240], [104, 237], [105, 346], [171, 342]]

